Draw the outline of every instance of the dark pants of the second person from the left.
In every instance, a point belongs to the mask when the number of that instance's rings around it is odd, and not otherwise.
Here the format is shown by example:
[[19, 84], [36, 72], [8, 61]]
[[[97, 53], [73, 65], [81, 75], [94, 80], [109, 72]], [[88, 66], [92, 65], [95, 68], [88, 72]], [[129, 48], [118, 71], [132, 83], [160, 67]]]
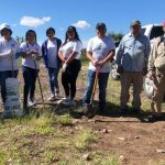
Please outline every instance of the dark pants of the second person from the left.
[[26, 107], [29, 92], [30, 92], [30, 99], [31, 100], [34, 99], [35, 81], [36, 81], [38, 70], [22, 66], [22, 73], [24, 78], [23, 106]]

